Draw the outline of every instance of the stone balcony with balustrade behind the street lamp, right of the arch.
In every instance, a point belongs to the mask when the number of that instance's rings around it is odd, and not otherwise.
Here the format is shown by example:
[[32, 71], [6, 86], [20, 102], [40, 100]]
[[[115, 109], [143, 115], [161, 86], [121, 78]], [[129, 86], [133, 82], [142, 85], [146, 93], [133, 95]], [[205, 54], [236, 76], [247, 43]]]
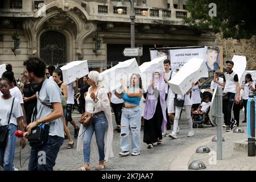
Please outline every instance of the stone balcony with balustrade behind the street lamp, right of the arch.
[[[130, 6], [127, 4], [122, 14], [117, 14], [114, 9], [117, 2], [97, 3], [97, 2], [82, 2], [85, 10], [89, 15], [90, 20], [99, 20], [106, 22], [130, 22]], [[139, 10], [139, 6], [134, 7], [136, 19], [135, 23], [162, 23], [162, 24], [179, 24], [182, 25], [182, 18], [189, 16], [186, 10], [179, 9], [163, 9], [148, 7], [147, 14], [143, 16]]]

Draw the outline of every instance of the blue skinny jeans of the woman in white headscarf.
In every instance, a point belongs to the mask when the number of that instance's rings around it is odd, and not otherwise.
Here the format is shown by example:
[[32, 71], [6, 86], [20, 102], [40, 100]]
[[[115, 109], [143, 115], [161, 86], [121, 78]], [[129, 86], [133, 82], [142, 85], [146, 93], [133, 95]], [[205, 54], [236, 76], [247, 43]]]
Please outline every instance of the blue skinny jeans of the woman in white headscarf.
[[83, 152], [84, 152], [84, 163], [90, 164], [90, 142], [92, 140], [93, 132], [95, 131], [96, 135], [96, 143], [98, 146], [98, 154], [100, 156], [100, 160], [104, 160], [105, 153], [105, 132], [108, 128], [108, 120], [104, 113], [94, 115], [92, 123], [90, 126], [82, 126], [82, 131], [84, 132], [82, 136], [83, 140]]

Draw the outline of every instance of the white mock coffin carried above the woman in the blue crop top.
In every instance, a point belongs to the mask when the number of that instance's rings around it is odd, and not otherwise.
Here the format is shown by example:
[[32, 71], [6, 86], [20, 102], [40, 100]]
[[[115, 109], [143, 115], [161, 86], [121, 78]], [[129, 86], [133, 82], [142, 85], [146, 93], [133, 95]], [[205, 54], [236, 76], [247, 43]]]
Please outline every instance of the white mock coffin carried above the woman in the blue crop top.
[[141, 73], [135, 58], [119, 62], [114, 67], [100, 73], [100, 75], [104, 77], [105, 89], [108, 92], [112, 92], [121, 87], [121, 78], [128, 83], [133, 73]]

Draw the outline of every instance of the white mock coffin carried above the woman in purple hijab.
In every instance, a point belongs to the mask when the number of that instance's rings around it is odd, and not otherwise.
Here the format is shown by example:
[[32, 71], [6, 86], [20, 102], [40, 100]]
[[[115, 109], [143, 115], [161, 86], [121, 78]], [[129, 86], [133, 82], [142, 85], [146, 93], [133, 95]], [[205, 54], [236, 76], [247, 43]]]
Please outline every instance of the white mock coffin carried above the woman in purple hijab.
[[145, 62], [139, 66], [141, 70], [141, 78], [144, 92], [147, 92], [147, 88], [152, 82], [152, 73], [156, 69], [159, 69], [162, 73], [164, 72], [163, 61], [167, 59], [167, 56], [156, 57], [154, 60]]

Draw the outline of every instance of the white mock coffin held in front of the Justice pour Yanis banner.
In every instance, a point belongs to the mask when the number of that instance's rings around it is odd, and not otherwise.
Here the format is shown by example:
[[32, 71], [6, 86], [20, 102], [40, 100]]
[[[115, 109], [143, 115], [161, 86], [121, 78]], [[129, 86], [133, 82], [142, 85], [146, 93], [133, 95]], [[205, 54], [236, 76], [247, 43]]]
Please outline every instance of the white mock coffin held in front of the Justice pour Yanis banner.
[[192, 82], [197, 82], [208, 73], [203, 59], [193, 57], [180, 68], [179, 72], [168, 82], [172, 92], [184, 95], [192, 87]]

